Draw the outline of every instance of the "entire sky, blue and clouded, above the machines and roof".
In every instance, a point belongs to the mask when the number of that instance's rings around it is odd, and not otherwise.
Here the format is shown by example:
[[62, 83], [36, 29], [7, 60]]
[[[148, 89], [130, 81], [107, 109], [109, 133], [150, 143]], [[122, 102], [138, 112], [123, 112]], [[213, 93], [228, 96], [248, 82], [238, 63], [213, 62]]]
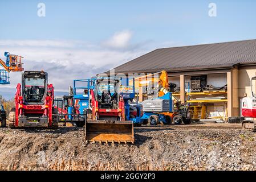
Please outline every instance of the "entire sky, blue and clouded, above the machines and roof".
[[[156, 48], [256, 39], [255, 20], [256, 1], [0, 1], [0, 58], [25, 56], [26, 69], [44, 69], [66, 90]], [[10, 77], [14, 87], [20, 74]]]

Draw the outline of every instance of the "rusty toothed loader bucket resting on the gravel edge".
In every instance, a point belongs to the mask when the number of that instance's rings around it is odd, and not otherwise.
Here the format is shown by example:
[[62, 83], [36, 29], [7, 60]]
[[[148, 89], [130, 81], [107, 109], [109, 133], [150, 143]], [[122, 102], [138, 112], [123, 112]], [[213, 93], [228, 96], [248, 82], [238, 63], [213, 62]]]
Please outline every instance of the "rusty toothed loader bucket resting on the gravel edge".
[[132, 143], [132, 121], [86, 121], [86, 140], [99, 143]]

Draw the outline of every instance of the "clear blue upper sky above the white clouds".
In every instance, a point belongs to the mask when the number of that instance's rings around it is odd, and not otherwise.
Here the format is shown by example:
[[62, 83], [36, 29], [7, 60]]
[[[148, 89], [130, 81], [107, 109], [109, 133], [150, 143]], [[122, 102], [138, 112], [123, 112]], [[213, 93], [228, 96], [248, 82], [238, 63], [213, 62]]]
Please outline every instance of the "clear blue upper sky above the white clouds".
[[[46, 5], [46, 17], [37, 5]], [[217, 17], [208, 5], [217, 5]], [[131, 30], [145, 40], [198, 44], [256, 38], [255, 1], [1, 1], [1, 39], [69, 39], [99, 42]], [[12, 28], [13, 25], [18, 28]]]

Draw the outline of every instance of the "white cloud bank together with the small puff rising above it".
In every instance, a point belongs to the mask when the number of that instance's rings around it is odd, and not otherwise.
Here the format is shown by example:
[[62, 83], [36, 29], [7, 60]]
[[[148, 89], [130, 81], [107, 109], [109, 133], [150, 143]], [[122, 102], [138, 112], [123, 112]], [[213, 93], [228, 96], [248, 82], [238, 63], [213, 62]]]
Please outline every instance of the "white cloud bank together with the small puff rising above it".
[[[108, 48], [100, 43], [73, 40], [0, 40], [0, 57], [5, 60], [5, 51], [25, 57], [25, 70], [48, 72], [49, 82], [54, 84], [55, 90], [65, 91], [75, 79], [108, 71], [162, 45], [176, 46], [172, 42], [153, 41], [129, 44], [131, 36], [131, 31], [116, 33], [107, 41]], [[15, 87], [21, 81], [21, 73], [10, 73], [10, 81], [10, 85], [0, 85], [1, 88]]]

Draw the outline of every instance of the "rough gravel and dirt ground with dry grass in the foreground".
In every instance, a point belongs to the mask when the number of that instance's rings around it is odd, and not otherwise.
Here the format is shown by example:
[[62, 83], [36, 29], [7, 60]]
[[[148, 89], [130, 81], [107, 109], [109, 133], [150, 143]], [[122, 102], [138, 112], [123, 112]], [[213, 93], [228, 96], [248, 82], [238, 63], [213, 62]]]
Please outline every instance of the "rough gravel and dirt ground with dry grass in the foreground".
[[256, 134], [240, 124], [144, 126], [135, 145], [86, 144], [84, 129], [0, 129], [2, 170], [255, 170]]

